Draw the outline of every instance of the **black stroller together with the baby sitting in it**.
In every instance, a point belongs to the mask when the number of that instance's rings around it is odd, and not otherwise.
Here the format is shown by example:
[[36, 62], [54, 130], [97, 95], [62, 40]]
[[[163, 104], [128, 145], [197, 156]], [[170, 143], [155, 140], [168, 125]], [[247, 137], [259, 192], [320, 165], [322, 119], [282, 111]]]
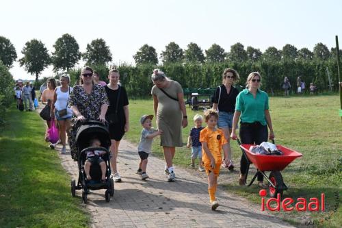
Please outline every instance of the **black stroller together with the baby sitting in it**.
[[87, 203], [89, 190], [105, 189], [105, 199], [109, 202], [114, 195], [114, 181], [109, 178], [111, 141], [108, 126], [99, 121], [87, 120], [75, 123], [75, 127], [77, 151], [71, 152], [75, 153], [73, 157], [77, 157], [79, 178], [71, 181], [71, 194], [75, 197], [76, 190], [82, 190], [83, 203]]

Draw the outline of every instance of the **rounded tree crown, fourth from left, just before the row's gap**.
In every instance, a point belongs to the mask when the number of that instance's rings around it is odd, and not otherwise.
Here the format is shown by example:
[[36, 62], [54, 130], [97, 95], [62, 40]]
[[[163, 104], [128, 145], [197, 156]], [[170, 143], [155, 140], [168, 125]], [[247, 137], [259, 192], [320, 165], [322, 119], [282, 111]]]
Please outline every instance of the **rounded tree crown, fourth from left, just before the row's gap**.
[[82, 58], [86, 61], [87, 65], [105, 65], [107, 62], [111, 62], [109, 46], [101, 38], [92, 40], [87, 45], [86, 52], [82, 54]]

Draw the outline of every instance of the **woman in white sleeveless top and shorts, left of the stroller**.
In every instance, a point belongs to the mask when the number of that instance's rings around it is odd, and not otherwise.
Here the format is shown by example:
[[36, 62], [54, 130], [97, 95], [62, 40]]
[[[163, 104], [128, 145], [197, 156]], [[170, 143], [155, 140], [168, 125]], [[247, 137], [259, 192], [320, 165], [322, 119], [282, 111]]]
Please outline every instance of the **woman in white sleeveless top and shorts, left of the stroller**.
[[73, 88], [69, 86], [70, 77], [62, 75], [60, 77], [62, 86], [57, 86], [53, 94], [53, 102], [51, 107], [51, 118], [56, 118], [60, 127], [60, 140], [63, 148], [62, 153], [66, 153], [66, 133], [70, 129], [70, 119], [73, 116], [73, 111], [68, 107], [70, 92]]

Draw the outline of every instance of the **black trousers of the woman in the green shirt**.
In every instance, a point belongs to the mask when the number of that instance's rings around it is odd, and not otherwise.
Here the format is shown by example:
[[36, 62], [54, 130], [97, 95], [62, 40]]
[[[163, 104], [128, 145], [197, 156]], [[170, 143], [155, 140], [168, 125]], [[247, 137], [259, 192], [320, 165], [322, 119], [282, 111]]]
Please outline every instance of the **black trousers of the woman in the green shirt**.
[[[254, 123], [241, 123], [239, 136], [242, 144], [261, 144], [261, 142], [267, 142], [268, 130], [267, 125], [261, 125], [259, 122]], [[246, 174], [248, 161], [244, 154], [240, 160], [240, 172]], [[258, 181], [263, 181], [263, 175], [259, 173], [257, 177]]]

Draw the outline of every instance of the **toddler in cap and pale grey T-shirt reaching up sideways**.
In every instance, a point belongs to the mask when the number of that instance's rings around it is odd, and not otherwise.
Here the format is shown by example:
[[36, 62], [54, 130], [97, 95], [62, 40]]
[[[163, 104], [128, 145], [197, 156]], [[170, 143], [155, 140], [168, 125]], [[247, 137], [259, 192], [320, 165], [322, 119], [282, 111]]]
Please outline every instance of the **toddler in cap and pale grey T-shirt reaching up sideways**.
[[160, 136], [163, 134], [163, 131], [154, 129], [152, 127], [152, 119], [153, 115], [144, 115], [140, 118], [140, 123], [142, 124], [142, 135], [140, 136], [139, 146], [137, 147], [137, 151], [140, 155], [140, 164], [137, 170], [137, 174], [142, 175], [142, 180], [148, 178], [146, 173], [147, 166], [147, 158], [151, 153], [151, 147], [153, 138], [156, 136]]

